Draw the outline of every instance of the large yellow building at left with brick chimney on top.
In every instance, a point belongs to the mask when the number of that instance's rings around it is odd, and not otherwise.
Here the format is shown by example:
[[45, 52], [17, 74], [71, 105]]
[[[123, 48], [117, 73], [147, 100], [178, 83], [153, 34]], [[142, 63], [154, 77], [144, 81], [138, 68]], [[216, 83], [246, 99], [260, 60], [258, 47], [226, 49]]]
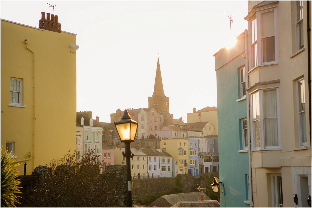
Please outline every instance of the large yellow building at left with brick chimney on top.
[[42, 12], [39, 28], [1, 19], [1, 146], [27, 175], [76, 149], [79, 46], [51, 18]]

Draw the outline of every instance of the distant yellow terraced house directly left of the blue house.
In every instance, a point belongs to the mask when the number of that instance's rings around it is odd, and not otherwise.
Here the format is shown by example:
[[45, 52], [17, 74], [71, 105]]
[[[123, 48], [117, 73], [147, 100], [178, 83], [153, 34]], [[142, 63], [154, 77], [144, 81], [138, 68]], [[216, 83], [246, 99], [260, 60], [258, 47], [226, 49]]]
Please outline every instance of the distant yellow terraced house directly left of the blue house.
[[172, 156], [172, 160], [176, 161], [174, 176], [179, 173], [188, 173], [188, 139], [161, 139], [159, 141], [159, 148], [165, 148], [166, 152]]

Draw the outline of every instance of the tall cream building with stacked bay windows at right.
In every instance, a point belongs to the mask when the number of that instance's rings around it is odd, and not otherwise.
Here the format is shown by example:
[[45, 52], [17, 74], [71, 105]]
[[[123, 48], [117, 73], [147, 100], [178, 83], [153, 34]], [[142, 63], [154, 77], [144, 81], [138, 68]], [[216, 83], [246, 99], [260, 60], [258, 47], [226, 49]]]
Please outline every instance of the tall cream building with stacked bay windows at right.
[[307, 207], [311, 195], [307, 14], [309, 1], [248, 1], [246, 94], [255, 207]]

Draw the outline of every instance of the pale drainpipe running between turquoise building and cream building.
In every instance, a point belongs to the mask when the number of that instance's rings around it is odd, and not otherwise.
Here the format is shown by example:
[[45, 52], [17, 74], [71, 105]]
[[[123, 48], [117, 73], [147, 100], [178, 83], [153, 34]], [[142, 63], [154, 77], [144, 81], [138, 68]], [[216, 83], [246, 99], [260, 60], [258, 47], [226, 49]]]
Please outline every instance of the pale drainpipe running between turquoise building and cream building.
[[[245, 71], [246, 71], [246, 89], [249, 88], [249, 66], [248, 66], [248, 31], [245, 29]], [[251, 132], [250, 132], [250, 105], [249, 105], [249, 93], [246, 93], [246, 102], [247, 102], [247, 138], [248, 138], [248, 168], [249, 168], [249, 201], [250, 207], [252, 207], [253, 199], [252, 199], [252, 175], [251, 175]]]

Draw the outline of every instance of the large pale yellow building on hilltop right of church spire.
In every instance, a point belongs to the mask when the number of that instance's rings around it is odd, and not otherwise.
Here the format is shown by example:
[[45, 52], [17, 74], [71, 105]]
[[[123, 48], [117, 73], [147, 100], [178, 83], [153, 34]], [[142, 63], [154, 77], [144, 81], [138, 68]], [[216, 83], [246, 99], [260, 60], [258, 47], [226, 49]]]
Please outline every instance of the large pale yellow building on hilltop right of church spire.
[[[212, 127], [214, 128], [214, 135], [218, 135], [218, 111], [217, 107], [204, 107], [198, 111], [196, 108], [193, 108], [193, 113], [187, 114], [188, 123], [197, 123], [209, 121]], [[212, 134], [212, 132], [205, 132], [205, 134]], [[205, 136], [204, 134], [204, 136]]]

